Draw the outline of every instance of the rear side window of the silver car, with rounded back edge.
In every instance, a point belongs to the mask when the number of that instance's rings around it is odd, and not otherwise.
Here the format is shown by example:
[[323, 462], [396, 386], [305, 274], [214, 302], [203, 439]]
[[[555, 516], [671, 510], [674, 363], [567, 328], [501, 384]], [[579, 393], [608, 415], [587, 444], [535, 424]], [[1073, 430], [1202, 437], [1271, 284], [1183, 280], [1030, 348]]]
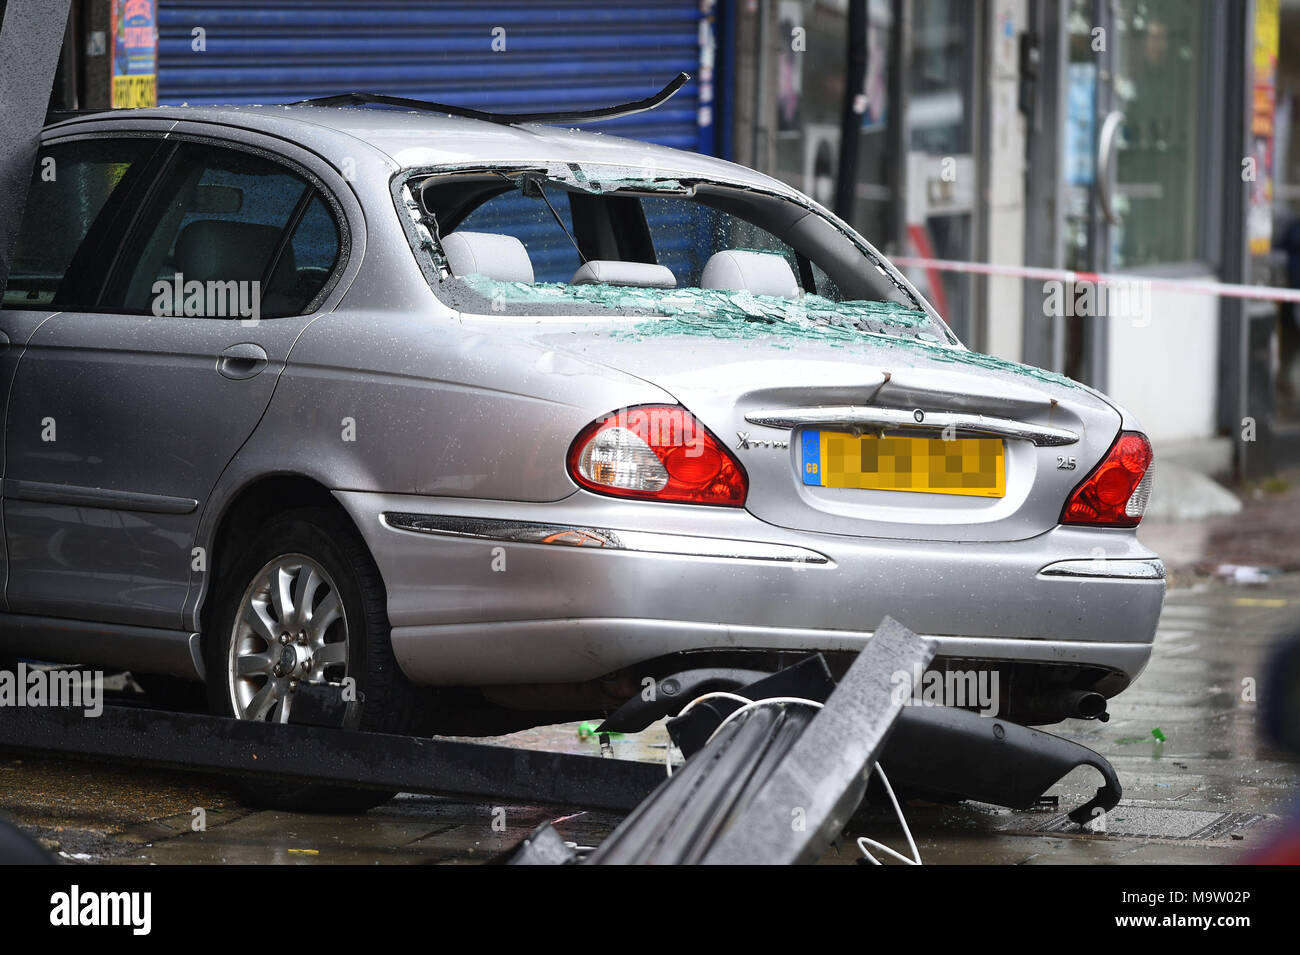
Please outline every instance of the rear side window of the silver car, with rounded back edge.
[[296, 173], [185, 143], [118, 256], [103, 307], [147, 314], [295, 314], [329, 279], [338, 226]]

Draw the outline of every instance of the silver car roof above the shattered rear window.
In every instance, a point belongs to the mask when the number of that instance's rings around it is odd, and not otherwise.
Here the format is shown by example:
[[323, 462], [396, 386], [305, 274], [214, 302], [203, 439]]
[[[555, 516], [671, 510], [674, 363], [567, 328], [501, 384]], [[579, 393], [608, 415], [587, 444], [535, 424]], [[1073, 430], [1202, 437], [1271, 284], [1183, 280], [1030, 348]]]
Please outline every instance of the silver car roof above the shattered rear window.
[[[367, 107], [231, 105], [155, 107], [77, 116], [56, 126], [177, 120], [280, 135], [342, 160], [364, 144], [400, 168], [477, 162], [603, 162], [653, 169], [654, 175], [719, 179], [776, 192], [792, 190], [746, 166], [637, 139], [559, 126], [507, 125], [433, 112]], [[55, 129], [55, 126], [49, 127]]]

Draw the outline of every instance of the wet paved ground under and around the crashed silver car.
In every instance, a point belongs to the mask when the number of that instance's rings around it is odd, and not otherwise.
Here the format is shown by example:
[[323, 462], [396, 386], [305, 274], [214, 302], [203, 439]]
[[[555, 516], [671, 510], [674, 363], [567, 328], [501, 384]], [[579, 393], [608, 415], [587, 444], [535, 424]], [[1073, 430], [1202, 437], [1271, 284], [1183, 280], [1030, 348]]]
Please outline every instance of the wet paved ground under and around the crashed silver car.
[[[1300, 793], [1300, 763], [1260, 739], [1257, 703], [1269, 650], [1300, 620], [1300, 574], [1261, 585], [1202, 581], [1170, 592], [1156, 651], [1112, 720], [1050, 728], [1112, 760], [1123, 802], [1105, 833], [1063, 813], [1100, 777], [1080, 768], [1050, 794], [1058, 806], [1011, 812], [911, 803], [905, 813], [926, 863], [1228, 863], [1265, 843]], [[1153, 732], [1164, 741], [1156, 738]], [[576, 724], [502, 738], [515, 746], [594, 754]], [[662, 725], [615, 739], [616, 758], [662, 761]], [[888, 770], [888, 767], [885, 767]], [[81, 863], [481, 863], [500, 858], [543, 820], [597, 845], [619, 816], [402, 795], [363, 816], [256, 811], [220, 778], [0, 754], [0, 815]], [[892, 811], [859, 812], [827, 863], [861, 858], [854, 838], [905, 850]]]

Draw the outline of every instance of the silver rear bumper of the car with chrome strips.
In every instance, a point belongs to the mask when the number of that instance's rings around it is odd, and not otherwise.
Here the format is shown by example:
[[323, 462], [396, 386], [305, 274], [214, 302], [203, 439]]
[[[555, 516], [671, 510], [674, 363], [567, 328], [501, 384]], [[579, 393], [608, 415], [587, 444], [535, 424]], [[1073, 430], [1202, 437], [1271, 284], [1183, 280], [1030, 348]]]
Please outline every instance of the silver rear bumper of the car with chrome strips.
[[857, 650], [885, 615], [945, 657], [1131, 681], [1165, 595], [1158, 557], [1131, 530], [883, 541], [586, 492], [335, 495], [380, 567], [394, 652], [419, 683], [572, 682], [684, 650]]

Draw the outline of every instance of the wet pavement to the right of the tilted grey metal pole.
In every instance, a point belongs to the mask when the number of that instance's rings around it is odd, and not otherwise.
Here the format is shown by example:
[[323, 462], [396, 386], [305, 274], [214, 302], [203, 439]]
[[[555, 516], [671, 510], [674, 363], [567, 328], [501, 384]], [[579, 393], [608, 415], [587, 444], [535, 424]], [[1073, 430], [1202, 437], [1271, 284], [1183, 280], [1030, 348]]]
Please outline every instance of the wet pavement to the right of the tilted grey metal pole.
[[[1231, 863], [1260, 848], [1296, 807], [1300, 763], [1261, 742], [1260, 704], [1243, 699], [1251, 686], [1243, 681], [1266, 685], [1270, 651], [1282, 634], [1300, 629], [1297, 616], [1295, 574], [1264, 586], [1210, 582], [1171, 591], [1152, 661], [1135, 686], [1110, 700], [1110, 722], [1070, 720], [1049, 728], [1095, 748], [1119, 773], [1124, 798], [1108, 815], [1108, 832], [1079, 833], [1062, 817], [1097, 785], [1095, 770], [1083, 768], [1050, 790], [1060, 796], [1058, 811], [968, 803], [910, 808], [922, 858]], [[878, 832], [897, 832], [888, 816], [876, 816]]]

